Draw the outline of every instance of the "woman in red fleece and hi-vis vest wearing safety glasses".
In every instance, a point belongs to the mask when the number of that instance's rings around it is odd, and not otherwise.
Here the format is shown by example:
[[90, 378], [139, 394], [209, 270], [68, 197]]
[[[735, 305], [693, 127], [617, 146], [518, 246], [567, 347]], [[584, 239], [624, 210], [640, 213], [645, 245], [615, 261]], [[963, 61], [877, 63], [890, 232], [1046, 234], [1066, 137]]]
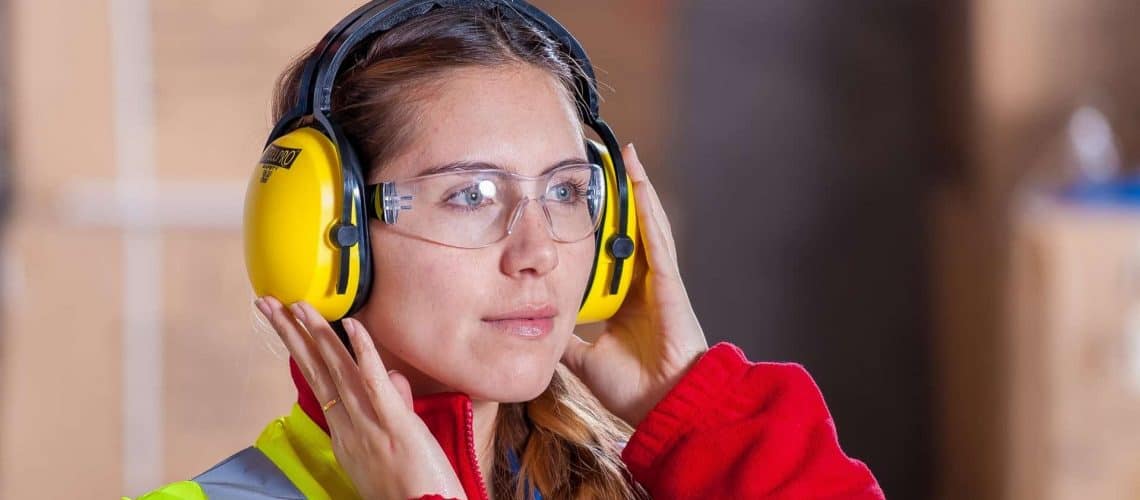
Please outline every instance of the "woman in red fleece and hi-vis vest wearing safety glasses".
[[[310, 56], [282, 75], [278, 118]], [[507, 198], [518, 205], [504, 224], [479, 228], [481, 246], [455, 244], [458, 229], [439, 221], [494, 203], [482, 188], [426, 208], [440, 211], [432, 227], [415, 222], [431, 219], [422, 206], [409, 214], [427, 219], [369, 221], [376, 271], [342, 323], [351, 352], [310, 304], [258, 300], [293, 356], [298, 405], [255, 451], [144, 499], [882, 497], [801, 368], [708, 347], [632, 145], [638, 271], [597, 342], [573, 334], [596, 246], [547, 198], [583, 196], [557, 182], [589, 167], [580, 68], [546, 33], [453, 6], [352, 60], [332, 112], [369, 185], [430, 192], [478, 167], [531, 192]]]

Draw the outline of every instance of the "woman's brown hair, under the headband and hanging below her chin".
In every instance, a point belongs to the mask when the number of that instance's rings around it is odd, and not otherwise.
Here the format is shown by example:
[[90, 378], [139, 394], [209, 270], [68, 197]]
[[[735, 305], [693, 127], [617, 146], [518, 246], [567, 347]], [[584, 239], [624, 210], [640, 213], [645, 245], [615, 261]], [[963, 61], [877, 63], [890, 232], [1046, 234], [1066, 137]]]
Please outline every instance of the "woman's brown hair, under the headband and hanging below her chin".
[[[572, 58], [545, 33], [502, 13], [455, 7], [408, 21], [350, 55], [336, 79], [332, 120], [358, 153], [367, 181], [408, 145], [416, 106], [430, 99], [432, 82], [459, 67], [529, 64], [548, 71], [576, 99]], [[298, 80], [311, 49], [280, 76], [275, 121], [296, 101]], [[559, 363], [551, 385], [524, 403], [499, 405], [495, 423], [495, 491], [528, 499], [510, 470], [507, 453], [520, 461], [519, 478], [546, 499], [648, 498], [621, 461], [633, 429], [614, 417], [586, 386]]]

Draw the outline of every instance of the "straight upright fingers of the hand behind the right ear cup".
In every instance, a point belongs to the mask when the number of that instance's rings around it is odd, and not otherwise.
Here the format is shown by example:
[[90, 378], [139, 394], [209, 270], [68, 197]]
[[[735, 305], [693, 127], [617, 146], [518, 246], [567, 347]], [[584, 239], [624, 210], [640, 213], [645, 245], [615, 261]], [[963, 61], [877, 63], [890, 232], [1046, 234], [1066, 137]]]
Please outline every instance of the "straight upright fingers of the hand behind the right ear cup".
[[628, 145], [622, 150], [626, 158], [626, 172], [633, 181], [634, 196], [637, 200], [637, 220], [641, 223], [641, 236], [644, 243], [645, 259], [650, 268], [657, 272], [679, 277], [677, 251], [673, 240], [673, 229], [665, 214], [665, 207], [657, 196], [657, 190], [645, 173], [645, 167], [637, 157], [637, 150]]

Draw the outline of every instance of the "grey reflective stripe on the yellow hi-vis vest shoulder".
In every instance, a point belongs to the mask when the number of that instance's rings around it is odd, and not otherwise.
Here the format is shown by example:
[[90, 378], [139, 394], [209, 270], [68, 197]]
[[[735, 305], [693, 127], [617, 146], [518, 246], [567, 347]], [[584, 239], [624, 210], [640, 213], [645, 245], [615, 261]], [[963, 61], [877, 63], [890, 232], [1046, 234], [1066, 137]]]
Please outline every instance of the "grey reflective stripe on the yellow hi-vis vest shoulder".
[[293, 482], [250, 446], [194, 478], [210, 500], [304, 500]]

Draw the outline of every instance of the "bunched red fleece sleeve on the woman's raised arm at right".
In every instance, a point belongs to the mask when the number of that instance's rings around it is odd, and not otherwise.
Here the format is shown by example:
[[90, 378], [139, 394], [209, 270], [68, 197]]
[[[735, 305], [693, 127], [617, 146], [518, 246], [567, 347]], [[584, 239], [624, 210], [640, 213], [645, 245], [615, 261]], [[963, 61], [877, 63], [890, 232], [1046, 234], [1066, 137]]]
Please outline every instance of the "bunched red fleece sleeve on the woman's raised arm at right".
[[803, 367], [749, 362], [723, 342], [642, 420], [621, 458], [653, 498], [883, 498], [840, 450]]

